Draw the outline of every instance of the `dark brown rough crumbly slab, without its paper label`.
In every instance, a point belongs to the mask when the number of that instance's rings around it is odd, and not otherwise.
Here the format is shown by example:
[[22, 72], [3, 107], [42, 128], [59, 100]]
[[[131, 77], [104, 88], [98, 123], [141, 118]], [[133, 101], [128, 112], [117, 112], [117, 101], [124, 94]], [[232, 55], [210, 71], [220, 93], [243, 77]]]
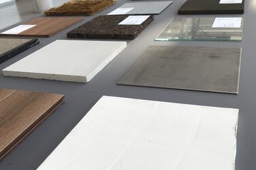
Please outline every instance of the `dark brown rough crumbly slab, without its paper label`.
[[150, 16], [140, 25], [119, 24], [127, 17], [127, 15], [98, 16], [67, 33], [67, 37], [87, 39], [135, 39], [154, 18]]

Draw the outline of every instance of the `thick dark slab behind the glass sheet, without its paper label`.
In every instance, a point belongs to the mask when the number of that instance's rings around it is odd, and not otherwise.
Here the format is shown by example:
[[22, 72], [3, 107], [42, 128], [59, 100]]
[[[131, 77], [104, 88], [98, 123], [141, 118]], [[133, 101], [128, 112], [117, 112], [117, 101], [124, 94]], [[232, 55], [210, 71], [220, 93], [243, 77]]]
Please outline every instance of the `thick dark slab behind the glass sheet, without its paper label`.
[[178, 14], [244, 14], [242, 3], [220, 4], [220, 0], [187, 0]]

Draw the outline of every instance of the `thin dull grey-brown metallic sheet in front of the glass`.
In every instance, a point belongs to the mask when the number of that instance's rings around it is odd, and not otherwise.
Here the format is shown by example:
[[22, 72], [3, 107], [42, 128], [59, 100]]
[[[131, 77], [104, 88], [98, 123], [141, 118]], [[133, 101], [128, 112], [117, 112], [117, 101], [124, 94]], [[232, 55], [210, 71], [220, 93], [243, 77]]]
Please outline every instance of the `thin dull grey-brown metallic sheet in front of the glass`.
[[240, 48], [150, 46], [118, 84], [238, 94]]

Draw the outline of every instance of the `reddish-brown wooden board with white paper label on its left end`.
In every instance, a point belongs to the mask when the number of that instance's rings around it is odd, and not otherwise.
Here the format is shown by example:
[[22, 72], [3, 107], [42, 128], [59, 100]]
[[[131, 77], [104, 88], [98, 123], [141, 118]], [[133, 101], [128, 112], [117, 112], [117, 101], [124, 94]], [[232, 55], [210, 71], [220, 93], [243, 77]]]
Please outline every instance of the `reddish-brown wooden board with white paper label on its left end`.
[[67, 27], [70, 27], [82, 18], [74, 17], [44, 17], [35, 18], [18, 27], [0, 33], [2, 37], [51, 37]]

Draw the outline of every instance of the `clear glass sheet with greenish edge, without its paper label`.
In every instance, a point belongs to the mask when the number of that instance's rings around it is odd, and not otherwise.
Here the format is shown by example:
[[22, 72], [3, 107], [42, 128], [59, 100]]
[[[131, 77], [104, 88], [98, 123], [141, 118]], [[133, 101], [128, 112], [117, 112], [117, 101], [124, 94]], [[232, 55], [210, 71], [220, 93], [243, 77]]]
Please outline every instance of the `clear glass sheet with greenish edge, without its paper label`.
[[156, 41], [217, 40], [241, 41], [240, 28], [212, 28], [215, 18], [173, 18]]

